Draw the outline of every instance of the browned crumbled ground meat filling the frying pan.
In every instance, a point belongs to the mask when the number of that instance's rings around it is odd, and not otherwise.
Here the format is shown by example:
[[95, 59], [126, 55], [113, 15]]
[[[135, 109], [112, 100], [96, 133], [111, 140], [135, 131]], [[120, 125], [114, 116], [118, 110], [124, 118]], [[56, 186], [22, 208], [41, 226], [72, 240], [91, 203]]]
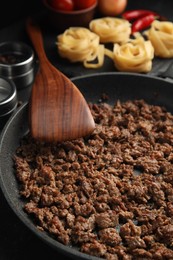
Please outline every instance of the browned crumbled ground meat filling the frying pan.
[[24, 210], [89, 255], [173, 259], [173, 115], [144, 100], [90, 108], [88, 137], [22, 139], [14, 162]]

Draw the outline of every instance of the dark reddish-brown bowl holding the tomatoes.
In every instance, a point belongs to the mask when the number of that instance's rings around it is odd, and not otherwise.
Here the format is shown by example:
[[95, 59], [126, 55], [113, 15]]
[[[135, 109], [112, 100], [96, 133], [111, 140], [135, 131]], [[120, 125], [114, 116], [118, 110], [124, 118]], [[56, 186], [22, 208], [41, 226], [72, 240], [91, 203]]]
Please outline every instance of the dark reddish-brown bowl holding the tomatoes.
[[60, 32], [73, 26], [88, 27], [94, 18], [97, 4], [96, 1], [91, 7], [82, 10], [58, 11], [51, 7], [50, 0], [43, 0], [50, 25]]

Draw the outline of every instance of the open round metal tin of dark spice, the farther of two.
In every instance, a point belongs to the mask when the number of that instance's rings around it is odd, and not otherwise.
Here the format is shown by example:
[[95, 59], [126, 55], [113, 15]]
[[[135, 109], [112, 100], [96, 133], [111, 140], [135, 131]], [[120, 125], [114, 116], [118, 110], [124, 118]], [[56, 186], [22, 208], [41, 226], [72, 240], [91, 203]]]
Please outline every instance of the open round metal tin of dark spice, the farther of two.
[[16, 88], [28, 86], [34, 79], [34, 51], [21, 41], [0, 43], [0, 76], [14, 81]]

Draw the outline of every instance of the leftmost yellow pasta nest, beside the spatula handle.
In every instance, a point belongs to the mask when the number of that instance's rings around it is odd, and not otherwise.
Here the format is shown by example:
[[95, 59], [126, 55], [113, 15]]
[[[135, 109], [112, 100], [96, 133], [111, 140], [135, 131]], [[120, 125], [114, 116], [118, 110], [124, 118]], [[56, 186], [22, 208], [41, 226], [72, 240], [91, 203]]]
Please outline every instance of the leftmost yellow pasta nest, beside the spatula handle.
[[[83, 62], [86, 68], [98, 68], [104, 62], [104, 45], [94, 32], [83, 27], [70, 27], [57, 36], [57, 48], [63, 58]], [[95, 63], [93, 61], [96, 61]]]

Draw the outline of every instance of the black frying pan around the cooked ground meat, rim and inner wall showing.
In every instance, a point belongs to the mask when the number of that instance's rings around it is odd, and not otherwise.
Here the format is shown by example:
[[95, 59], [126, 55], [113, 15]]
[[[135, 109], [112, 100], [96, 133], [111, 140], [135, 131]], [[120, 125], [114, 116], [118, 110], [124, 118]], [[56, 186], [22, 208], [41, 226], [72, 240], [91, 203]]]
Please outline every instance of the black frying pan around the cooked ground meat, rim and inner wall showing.
[[[72, 78], [88, 102], [99, 102], [106, 94], [108, 103], [144, 99], [149, 104], [165, 106], [173, 112], [173, 84], [171, 82], [142, 74], [108, 72]], [[73, 259], [99, 259], [79, 252], [77, 248], [65, 246], [47, 233], [39, 231], [32, 219], [23, 211], [24, 202], [18, 193], [18, 184], [13, 169], [13, 154], [20, 139], [28, 132], [28, 104], [18, 108], [5, 125], [0, 138], [0, 187], [18, 218], [41, 240], [60, 253]]]

